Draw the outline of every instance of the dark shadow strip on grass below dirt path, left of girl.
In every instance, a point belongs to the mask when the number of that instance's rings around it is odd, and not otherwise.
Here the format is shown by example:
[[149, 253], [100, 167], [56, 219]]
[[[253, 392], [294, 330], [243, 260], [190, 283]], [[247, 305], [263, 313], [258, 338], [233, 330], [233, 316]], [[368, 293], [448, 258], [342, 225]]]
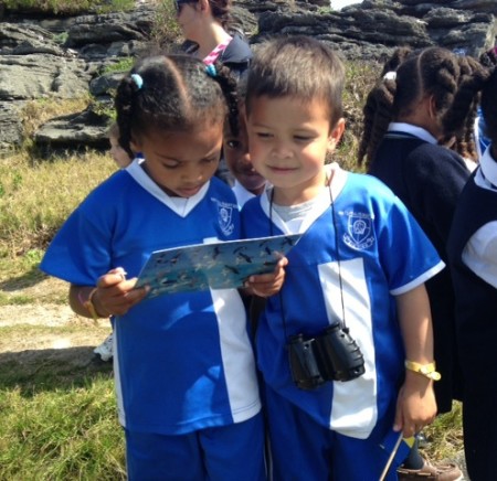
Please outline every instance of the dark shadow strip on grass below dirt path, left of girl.
[[44, 391], [70, 391], [94, 377], [112, 378], [113, 363], [103, 362], [94, 346], [0, 353], [0, 387], [20, 388], [23, 397]]

